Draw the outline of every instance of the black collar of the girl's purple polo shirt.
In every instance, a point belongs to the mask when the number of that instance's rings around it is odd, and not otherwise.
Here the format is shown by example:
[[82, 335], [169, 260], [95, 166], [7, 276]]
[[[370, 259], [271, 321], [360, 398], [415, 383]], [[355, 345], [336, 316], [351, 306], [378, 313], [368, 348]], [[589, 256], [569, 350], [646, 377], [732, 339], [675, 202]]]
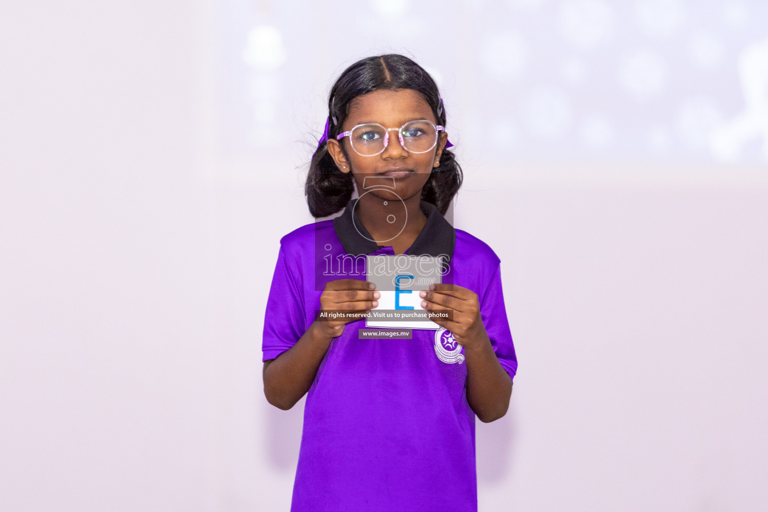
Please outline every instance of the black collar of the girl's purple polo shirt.
[[[366, 227], [353, 213], [353, 206], [356, 203], [356, 199], [346, 203], [344, 213], [333, 220], [333, 228], [347, 254], [370, 254], [383, 246], [379, 246], [371, 239], [372, 236]], [[456, 244], [456, 231], [440, 214], [437, 206], [426, 201], [419, 203], [419, 206], [427, 216], [427, 223], [408, 249], [408, 254], [410, 256], [448, 256], [446, 263], [450, 263]]]

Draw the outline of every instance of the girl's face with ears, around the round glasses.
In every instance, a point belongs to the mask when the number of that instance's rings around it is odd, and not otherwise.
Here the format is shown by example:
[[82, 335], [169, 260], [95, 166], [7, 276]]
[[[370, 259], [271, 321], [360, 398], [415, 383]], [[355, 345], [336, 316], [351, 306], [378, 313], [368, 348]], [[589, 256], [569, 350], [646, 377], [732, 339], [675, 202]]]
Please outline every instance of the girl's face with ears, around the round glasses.
[[[439, 124], [432, 108], [424, 97], [411, 89], [399, 91], [373, 91], [356, 97], [349, 104], [349, 114], [342, 124], [342, 131], [351, 130], [356, 124], [378, 123], [386, 128], [399, 128], [408, 121], [426, 119]], [[366, 177], [392, 177], [395, 180], [397, 196], [408, 200], [418, 194], [429, 179], [432, 169], [439, 167], [440, 155], [448, 134], [438, 132], [437, 144], [426, 153], [409, 153], [400, 145], [397, 132], [389, 132], [389, 144], [382, 153], [363, 157], [349, 145], [349, 137], [343, 140], [328, 140], [328, 151], [343, 173], [352, 172], [357, 190], [362, 195]], [[342, 144], [344, 150], [342, 150]], [[379, 180], [376, 180], [380, 183]], [[392, 183], [389, 180], [389, 183]], [[372, 195], [382, 200], [396, 200], [397, 196], [387, 190], [372, 190]]]

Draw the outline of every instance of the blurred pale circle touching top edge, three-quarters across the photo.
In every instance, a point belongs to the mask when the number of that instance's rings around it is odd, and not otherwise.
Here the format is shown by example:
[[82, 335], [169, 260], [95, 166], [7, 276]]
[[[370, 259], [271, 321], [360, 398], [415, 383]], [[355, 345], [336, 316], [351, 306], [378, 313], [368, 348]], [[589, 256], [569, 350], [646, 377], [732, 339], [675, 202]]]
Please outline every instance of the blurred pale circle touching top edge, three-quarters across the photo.
[[601, 0], [574, 0], [560, 8], [560, 30], [565, 41], [581, 49], [594, 48], [611, 38], [614, 14]]

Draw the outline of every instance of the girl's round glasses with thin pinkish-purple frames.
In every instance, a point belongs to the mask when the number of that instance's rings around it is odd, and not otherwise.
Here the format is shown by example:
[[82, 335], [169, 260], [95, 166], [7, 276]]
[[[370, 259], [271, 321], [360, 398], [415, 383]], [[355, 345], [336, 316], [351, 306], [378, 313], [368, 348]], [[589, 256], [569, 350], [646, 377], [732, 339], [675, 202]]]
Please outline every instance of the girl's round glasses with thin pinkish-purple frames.
[[356, 154], [362, 157], [375, 157], [389, 144], [389, 132], [397, 130], [400, 145], [409, 153], [426, 153], [437, 144], [439, 131], [445, 131], [442, 126], [435, 126], [422, 119], [408, 121], [399, 128], [385, 128], [378, 123], [358, 124], [352, 130], [338, 134], [336, 140], [349, 136], [349, 143]]

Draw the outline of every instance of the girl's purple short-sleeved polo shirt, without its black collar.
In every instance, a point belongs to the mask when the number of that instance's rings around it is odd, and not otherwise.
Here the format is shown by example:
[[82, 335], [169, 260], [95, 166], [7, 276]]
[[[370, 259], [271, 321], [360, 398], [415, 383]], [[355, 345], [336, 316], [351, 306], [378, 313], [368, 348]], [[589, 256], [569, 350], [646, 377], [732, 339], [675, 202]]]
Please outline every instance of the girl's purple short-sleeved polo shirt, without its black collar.
[[[336, 220], [300, 227], [280, 240], [264, 319], [264, 361], [306, 332], [324, 281], [366, 279], [365, 269], [353, 265], [343, 276], [323, 276], [318, 269], [329, 255], [394, 254], [391, 246], [366, 240], [353, 203]], [[454, 230], [434, 205], [421, 206], [427, 223], [406, 253], [442, 255], [450, 268], [443, 282], [477, 293], [493, 349], [514, 378], [518, 363], [498, 257], [482, 240]], [[435, 336], [439, 331], [361, 340], [363, 327], [364, 320], [349, 323], [333, 339], [307, 394], [292, 512], [475, 512], [475, 412], [466, 398], [466, 365], [439, 358], [435, 345], [445, 342], [444, 335]]]

